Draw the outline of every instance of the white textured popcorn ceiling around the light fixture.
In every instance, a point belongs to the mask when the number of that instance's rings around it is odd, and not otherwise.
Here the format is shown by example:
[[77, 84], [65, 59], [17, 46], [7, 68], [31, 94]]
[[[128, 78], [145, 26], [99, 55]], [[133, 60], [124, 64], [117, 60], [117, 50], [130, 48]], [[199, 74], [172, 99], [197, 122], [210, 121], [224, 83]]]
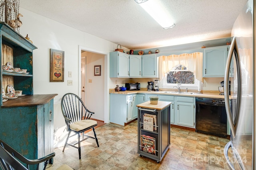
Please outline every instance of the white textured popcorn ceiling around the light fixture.
[[230, 37], [247, 0], [158, 0], [176, 26], [163, 29], [134, 0], [20, 0], [20, 7], [128, 49]]

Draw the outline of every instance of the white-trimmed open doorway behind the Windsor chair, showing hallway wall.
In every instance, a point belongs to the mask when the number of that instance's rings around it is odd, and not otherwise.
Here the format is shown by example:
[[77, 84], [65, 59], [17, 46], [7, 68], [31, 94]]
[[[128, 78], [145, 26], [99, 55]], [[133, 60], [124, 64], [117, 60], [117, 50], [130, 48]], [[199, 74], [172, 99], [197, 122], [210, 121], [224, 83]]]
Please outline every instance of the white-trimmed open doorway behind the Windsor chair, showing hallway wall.
[[[86, 107], [95, 112], [93, 119], [109, 123], [108, 94], [108, 52], [80, 47], [79, 89]], [[100, 66], [100, 75], [94, 74], [94, 67]]]

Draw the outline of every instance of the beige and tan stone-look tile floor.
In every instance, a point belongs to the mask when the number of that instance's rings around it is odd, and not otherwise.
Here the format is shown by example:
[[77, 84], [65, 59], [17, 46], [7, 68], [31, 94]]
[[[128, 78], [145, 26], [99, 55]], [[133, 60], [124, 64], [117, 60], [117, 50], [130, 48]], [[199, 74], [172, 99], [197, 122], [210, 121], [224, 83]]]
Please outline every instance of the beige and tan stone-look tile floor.
[[[96, 128], [100, 147], [94, 139], [82, 142], [81, 155], [68, 147], [54, 149], [55, 170], [68, 164], [75, 170], [228, 170], [223, 149], [229, 139], [171, 128], [171, 145], [160, 163], [137, 153], [137, 121], [126, 126], [112, 123]], [[92, 131], [88, 132], [92, 134]]]

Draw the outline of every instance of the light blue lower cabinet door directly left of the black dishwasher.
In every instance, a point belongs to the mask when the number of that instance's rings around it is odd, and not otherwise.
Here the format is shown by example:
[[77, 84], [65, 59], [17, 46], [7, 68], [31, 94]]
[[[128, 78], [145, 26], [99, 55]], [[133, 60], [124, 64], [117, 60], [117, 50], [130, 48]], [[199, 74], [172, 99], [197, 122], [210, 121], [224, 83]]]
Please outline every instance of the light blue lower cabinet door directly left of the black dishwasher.
[[194, 104], [177, 102], [177, 125], [194, 127]]

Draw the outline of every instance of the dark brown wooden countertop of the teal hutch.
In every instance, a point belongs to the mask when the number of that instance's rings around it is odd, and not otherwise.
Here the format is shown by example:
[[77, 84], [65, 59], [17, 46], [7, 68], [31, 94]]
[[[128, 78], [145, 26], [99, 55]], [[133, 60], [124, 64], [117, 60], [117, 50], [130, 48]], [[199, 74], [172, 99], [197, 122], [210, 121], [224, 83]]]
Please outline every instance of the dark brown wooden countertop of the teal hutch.
[[3, 102], [1, 107], [22, 107], [22, 106], [37, 106], [50, 102], [58, 94], [36, 94], [18, 97], [13, 100]]

